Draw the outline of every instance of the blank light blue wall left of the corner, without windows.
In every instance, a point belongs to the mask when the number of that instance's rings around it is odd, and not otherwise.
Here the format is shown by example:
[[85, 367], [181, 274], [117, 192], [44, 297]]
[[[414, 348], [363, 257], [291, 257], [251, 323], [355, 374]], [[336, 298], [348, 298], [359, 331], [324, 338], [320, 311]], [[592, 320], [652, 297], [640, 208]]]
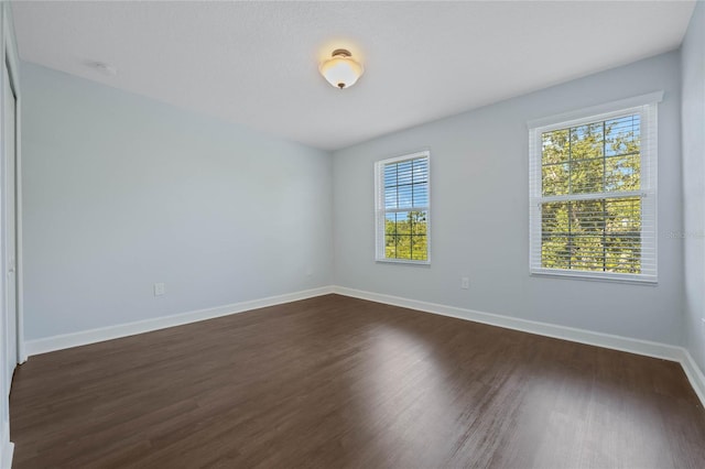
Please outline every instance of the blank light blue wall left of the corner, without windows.
[[28, 340], [330, 284], [329, 153], [28, 63], [22, 80]]

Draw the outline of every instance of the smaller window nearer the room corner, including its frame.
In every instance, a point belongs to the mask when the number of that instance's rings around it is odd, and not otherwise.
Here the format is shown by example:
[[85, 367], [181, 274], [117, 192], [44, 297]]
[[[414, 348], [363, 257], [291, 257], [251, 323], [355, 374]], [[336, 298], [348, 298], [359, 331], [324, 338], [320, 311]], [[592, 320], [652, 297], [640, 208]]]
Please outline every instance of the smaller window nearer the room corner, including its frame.
[[430, 154], [375, 163], [377, 260], [430, 263]]

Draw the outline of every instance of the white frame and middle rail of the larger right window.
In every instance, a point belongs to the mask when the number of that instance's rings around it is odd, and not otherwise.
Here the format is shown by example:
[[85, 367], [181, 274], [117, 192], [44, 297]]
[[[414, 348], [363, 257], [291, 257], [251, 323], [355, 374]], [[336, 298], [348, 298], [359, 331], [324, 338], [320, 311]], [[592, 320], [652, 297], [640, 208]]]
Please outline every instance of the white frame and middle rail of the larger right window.
[[[658, 103], [663, 99], [663, 91], [651, 92], [633, 98], [612, 101], [600, 106], [582, 109], [560, 116], [529, 121], [529, 269], [531, 275], [547, 275], [581, 280], [598, 280], [626, 283], [658, 283], [658, 225], [657, 225], [657, 168], [658, 168]], [[642, 273], [596, 272], [567, 269], [546, 269], [542, 266], [541, 241], [542, 219], [541, 207], [547, 201], [581, 200], [594, 198], [583, 194], [565, 196], [542, 195], [542, 133], [558, 129], [577, 127], [586, 123], [609, 120], [626, 114], [640, 114], [641, 140], [641, 177], [640, 189], [626, 193], [612, 193], [615, 196], [641, 197], [641, 219], [653, 220], [652, 229], [642, 222], [642, 253], [652, 252], [649, 257], [650, 266]], [[646, 139], [644, 139], [646, 135]], [[609, 193], [603, 193], [609, 197]], [[646, 258], [642, 258], [646, 259]]]

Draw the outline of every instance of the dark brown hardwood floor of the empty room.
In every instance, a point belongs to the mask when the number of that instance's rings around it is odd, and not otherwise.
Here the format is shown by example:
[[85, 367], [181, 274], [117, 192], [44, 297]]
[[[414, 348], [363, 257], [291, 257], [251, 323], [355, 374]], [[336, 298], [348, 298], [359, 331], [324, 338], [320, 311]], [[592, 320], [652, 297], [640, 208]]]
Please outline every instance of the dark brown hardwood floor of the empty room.
[[328, 295], [32, 357], [14, 468], [704, 468], [680, 364]]

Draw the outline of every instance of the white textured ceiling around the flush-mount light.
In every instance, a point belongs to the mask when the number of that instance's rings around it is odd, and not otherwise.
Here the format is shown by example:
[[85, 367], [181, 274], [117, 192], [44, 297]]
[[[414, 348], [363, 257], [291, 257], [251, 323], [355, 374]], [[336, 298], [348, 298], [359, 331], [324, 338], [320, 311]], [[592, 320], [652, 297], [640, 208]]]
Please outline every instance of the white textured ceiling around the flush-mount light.
[[[93, 1], [13, 13], [24, 61], [334, 150], [674, 50], [694, 4]], [[337, 47], [366, 68], [345, 90], [317, 69]]]

